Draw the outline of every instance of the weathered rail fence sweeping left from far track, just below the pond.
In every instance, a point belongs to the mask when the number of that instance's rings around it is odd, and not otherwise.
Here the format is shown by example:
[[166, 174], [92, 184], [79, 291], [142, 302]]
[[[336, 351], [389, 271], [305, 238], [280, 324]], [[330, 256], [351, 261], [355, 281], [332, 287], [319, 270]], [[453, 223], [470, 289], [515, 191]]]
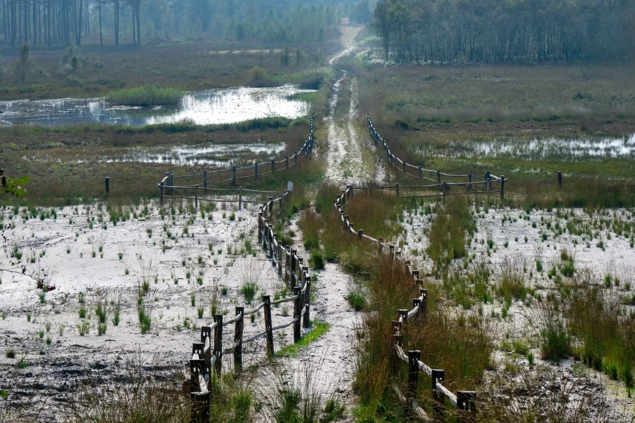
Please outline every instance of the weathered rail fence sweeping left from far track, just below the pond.
[[[159, 187], [159, 196], [161, 197], [161, 199], [163, 199], [164, 197], [174, 197], [174, 193], [178, 190], [195, 188], [210, 189], [210, 187], [213, 185], [224, 184], [226, 182], [231, 182], [231, 185], [235, 187], [237, 180], [251, 178], [257, 180], [258, 177], [262, 177], [269, 173], [288, 170], [289, 168], [298, 164], [298, 159], [306, 158], [311, 153], [314, 143], [314, 123], [315, 114], [312, 114], [309, 137], [307, 137], [307, 139], [304, 141], [304, 144], [302, 144], [302, 148], [300, 148], [300, 151], [295, 152], [292, 156], [284, 156], [284, 159], [279, 161], [271, 159], [271, 161], [265, 161], [264, 163], [255, 163], [251, 166], [244, 166], [241, 168], [232, 166], [231, 168], [227, 169], [203, 171], [202, 173], [192, 173], [192, 175], [174, 176], [173, 173], [166, 172], [165, 177], [157, 185]], [[220, 180], [211, 182], [210, 177], [220, 178]], [[192, 178], [198, 178], [198, 180], [194, 180], [193, 182], [186, 182], [187, 185], [175, 185], [175, 180], [177, 180], [177, 182], [180, 179], [191, 181]], [[177, 198], [178, 197], [179, 196], [177, 196]]]

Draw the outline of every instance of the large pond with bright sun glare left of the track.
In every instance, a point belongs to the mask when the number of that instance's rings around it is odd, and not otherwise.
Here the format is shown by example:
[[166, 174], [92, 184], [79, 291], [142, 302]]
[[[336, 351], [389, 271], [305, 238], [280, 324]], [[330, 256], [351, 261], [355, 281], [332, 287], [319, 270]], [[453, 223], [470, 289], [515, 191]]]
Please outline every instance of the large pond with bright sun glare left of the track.
[[194, 124], [236, 123], [272, 116], [293, 119], [309, 112], [310, 104], [298, 94], [310, 92], [314, 91], [301, 90], [294, 85], [190, 91], [178, 106], [155, 107], [114, 106], [103, 97], [18, 100], [0, 102], [0, 125], [110, 123], [142, 126], [180, 121]]

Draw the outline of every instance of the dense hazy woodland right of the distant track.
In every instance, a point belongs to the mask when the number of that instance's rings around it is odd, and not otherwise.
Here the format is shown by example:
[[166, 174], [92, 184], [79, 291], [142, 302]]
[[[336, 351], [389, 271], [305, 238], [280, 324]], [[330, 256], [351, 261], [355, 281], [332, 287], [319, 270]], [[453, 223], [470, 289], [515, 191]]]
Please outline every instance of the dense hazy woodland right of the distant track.
[[379, 0], [371, 27], [397, 62], [626, 61], [635, 0]]

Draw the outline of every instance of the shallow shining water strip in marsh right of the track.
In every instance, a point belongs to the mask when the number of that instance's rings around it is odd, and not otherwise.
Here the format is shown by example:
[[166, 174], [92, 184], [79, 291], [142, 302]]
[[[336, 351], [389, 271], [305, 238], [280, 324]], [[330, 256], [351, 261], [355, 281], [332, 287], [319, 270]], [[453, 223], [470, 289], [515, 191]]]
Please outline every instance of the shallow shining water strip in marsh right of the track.
[[494, 138], [461, 140], [420, 149], [446, 157], [510, 157], [518, 159], [634, 158], [635, 134], [626, 137]]

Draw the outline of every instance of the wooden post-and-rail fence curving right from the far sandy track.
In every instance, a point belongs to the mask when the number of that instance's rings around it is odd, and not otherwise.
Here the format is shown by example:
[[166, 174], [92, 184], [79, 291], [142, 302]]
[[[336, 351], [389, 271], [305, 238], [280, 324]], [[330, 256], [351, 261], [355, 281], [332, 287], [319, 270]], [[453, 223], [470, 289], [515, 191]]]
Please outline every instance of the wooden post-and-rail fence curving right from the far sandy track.
[[[436, 182], [436, 184], [434, 185], [427, 185], [427, 186], [441, 187], [444, 190], [443, 191], [444, 193], [446, 192], [445, 188], [451, 185], [465, 186], [468, 188], [467, 193], [472, 192], [472, 186], [483, 185], [483, 188], [485, 190], [483, 192], [500, 192], [500, 198], [501, 199], [505, 198], [505, 182], [507, 182], [507, 180], [505, 179], [504, 175], [500, 175], [500, 177], [497, 177], [496, 175], [492, 175], [491, 172], [489, 171], [486, 172], [485, 175], [472, 175], [471, 173], [467, 173], [467, 175], [451, 175], [448, 173], [443, 173], [439, 170], [424, 169], [422, 168], [422, 166], [414, 166], [413, 164], [406, 163], [392, 153], [391, 147], [388, 145], [388, 142], [385, 140], [384, 137], [380, 135], [380, 133], [377, 132], [377, 130], [375, 130], [375, 126], [373, 126], [373, 122], [371, 121], [370, 116], [368, 115], [368, 112], [366, 112], [366, 121], [368, 122], [368, 130], [370, 131], [370, 136], [373, 138], [375, 145], [377, 145], [378, 148], [381, 145], [382, 149], [384, 150], [384, 154], [386, 156], [387, 162], [391, 164], [391, 166], [394, 167], [395, 169], [401, 171], [401, 173], [403, 173], [404, 175], [417, 178], [418, 180], [430, 180], [432, 182]], [[417, 175], [408, 173], [408, 169], [416, 170]], [[425, 173], [436, 175], [436, 179], [425, 177], [424, 176]], [[450, 184], [450, 183], [447, 183], [446, 181], [442, 181], [441, 177], [467, 178], [467, 182], [461, 182], [458, 184]], [[472, 182], [472, 178], [483, 178], [483, 181]], [[493, 189], [497, 186], [498, 186], [498, 189]], [[445, 198], [445, 194], [443, 194], [443, 196]], [[411, 198], [416, 198], [416, 197], [411, 197]]]

